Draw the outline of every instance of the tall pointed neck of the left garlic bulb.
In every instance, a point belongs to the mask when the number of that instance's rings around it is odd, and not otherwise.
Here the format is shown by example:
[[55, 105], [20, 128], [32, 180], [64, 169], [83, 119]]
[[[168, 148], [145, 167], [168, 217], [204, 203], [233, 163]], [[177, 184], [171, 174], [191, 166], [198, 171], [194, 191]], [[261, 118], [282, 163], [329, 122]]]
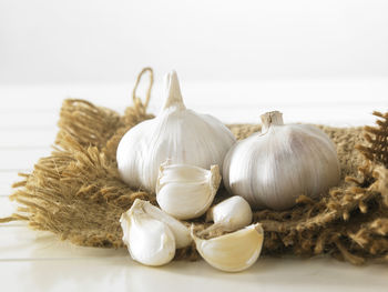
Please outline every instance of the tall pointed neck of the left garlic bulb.
[[178, 110], [186, 109], [182, 99], [182, 92], [181, 92], [180, 81], [177, 79], [176, 71], [173, 70], [170, 73], [167, 73], [165, 78], [165, 87], [166, 87], [165, 102], [162, 110], [166, 110], [172, 107]]

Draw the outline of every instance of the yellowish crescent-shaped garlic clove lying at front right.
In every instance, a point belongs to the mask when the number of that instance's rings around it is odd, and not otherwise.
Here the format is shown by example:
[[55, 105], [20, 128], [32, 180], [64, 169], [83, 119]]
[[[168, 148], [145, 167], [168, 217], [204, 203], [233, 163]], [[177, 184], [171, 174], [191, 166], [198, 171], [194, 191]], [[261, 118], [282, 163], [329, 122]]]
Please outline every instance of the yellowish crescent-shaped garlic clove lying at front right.
[[202, 258], [214, 268], [225, 272], [239, 272], [253, 265], [262, 251], [264, 232], [261, 224], [203, 240], [192, 236]]

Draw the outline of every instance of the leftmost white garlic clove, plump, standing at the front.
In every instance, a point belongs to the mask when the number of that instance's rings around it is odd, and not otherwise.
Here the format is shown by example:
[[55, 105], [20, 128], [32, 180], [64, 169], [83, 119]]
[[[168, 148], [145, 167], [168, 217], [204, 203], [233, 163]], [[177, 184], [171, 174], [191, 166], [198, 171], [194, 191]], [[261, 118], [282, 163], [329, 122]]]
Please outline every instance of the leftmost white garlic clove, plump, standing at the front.
[[163, 265], [175, 255], [175, 238], [167, 224], [142, 210], [130, 209], [120, 219], [123, 241], [133, 260], [145, 265]]

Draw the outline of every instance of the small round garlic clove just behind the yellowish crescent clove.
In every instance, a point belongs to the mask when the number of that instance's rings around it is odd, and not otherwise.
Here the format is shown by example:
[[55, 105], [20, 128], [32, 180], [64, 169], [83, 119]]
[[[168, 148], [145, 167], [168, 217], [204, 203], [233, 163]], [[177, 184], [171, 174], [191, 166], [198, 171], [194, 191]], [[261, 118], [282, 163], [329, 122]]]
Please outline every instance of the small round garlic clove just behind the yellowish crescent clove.
[[249, 203], [239, 195], [228, 198], [212, 207], [206, 213], [206, 221], [213, 221], [210, 229], [222, 228], [224, 231], [242, 229], [252, 222]]

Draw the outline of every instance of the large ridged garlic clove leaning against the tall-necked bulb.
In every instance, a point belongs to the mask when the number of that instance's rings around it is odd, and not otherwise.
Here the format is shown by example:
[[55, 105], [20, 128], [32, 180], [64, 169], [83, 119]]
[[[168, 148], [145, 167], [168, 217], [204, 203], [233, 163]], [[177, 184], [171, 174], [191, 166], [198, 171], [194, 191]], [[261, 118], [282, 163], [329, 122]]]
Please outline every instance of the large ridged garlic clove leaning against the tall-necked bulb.
[[176, 219], [193, 219], [206, 212], [221, 183], [218, 165], [211, 170], [188, 164], [160, 167], [156, 201], [161, 209]]

